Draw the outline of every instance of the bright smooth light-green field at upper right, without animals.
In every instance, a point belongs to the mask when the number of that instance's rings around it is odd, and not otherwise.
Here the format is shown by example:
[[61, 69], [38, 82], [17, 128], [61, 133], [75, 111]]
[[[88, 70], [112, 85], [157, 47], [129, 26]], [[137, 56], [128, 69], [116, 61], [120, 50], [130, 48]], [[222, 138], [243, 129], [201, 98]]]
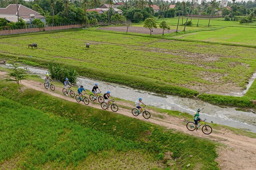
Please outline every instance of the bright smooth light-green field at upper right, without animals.
[[212, 31], [200, 31], [176, 36], [190, 40], [204, 40], [208, 42], [235, 43], [256, 46], [256, 28], [225, 27]]

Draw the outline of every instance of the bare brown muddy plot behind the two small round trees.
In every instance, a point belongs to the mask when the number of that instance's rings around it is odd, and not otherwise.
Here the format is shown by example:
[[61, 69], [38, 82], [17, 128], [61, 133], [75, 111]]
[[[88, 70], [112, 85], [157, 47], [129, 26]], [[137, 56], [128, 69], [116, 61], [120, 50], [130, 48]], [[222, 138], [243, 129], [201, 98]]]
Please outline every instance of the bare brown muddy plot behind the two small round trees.
[[[120, 26], [120, 27], [104, 27], [104, 28], [99, 28], [103, 30], [112, 30], [112, 31], [121, 31], [121, 32], [126, 32], [127, 27], [126, 26]], [[168, 34], [171, 32], [175, 32], [176, 30], [171, 29], [171, 30], [165, 30], [164, 33]], [[128, 29], [128, 32], [135, 32], [135, 33], [142, 33], [142, 34], [150, 34], [150, 30], [146, 29], [144, 27], [134, 27], [130, 26]], [[153, 32], [151, 34], [163, 34], [163, 29], [160, 28], [153, 28]]]

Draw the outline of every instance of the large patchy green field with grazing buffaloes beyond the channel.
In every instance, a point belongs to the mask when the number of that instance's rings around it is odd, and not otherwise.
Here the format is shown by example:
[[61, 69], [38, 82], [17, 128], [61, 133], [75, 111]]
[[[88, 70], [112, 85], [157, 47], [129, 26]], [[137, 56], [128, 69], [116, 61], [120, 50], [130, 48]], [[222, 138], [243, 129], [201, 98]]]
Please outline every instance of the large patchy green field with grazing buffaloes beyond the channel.
[[[28, 49], [31, 42], [38, 49]], [[60, 63], [90, 78], [181, 96], [197, 93], [176, 86], [214, 93], [227, 84], [242, 90], [256, 69], [254, 48], [88, 30], [2, 38], [0, 49], [1, 58], [19, 56], [35, 66]]]

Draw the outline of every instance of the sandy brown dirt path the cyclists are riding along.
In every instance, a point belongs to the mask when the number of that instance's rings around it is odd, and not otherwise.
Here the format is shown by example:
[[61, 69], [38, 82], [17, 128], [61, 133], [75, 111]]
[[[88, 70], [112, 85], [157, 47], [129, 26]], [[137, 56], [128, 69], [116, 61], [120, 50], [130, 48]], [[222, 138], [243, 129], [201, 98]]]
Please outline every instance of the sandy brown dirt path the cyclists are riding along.
[[[6, 72], [0, 72], [0, 75], [4, 75]], [[70, 96], [65, 96], [63, 94], [57, 94], [56, 91], [62, 91], [62, 88], [55, 88], [55, 91], [51, 91], [50, 89], [45, 89], [44, 85], [35, 82], [35, 81], [29, 81], [29, 80], [23, 80], [22, 84], [25, 87], [32, 88], [34, 90], [42, 91], [44, 93], [47, 93], [49, 95], [62, 98], [68, 101], [77, 102], [75, 98], [72, 98]], [[83, 104], [80, 102], [80, 104]], [[125, 102], [117, 102], [117, 105], [125, 105], [129, 107], [134, 107], [130, 105], [129, 103]], [[99, 103], [90, 101], [90, 104], [88, 105], [90, 107], [95, 107], [98, 109], [101, 109], [101, 106]], [[235, 135], [231, 132], [218, 132], [214, 130], [213, 133], [210, 135], [205, 135], [201, 131], [199, 132], [191, 132], [187, 130], [186, 126], [183, 125], [183, 119], [177, 119], [176, 117], [172, 117], [167, 114], [161, 114], [156, 113], [153, 111], [152, 116], [150, 119], [144, 119], [142, 116], [135, 117], [132, 115], [131, 111], [129, 109], [120, 108], [117, 113], [126, 115], [129, 117], [133, 117], [134, 119], [140, 119], [146, 122], [155, 123], [161, 126], [165, 126], [167, 128], [173, 128], [179, 131], [182, 131], [184, 133], [202, 137], [202, 138], [208, 138], [213, 141], [218, 141], [225, 146], [221, 146], [217, 149], [218, 157], [217, 162], [219, 163], [219, 167], [223, 170], [254, 170], [256, 167], [256, 139], [252, 139], [246, 136], [239, 136]], [[156, 115], [164, 116], [164, 119], [158, 118]], [[217, 133], [216, 133], [217, 132]]]

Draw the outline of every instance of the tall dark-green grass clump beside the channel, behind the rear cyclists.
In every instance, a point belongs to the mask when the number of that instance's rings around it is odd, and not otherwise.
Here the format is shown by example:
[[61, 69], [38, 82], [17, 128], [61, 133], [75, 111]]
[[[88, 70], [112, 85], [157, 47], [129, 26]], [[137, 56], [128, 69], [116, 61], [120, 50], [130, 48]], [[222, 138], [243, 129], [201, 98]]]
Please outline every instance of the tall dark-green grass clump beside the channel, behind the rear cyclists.
[[49, 66], [49, 74], [52, 79], [59, 80], [60, 82], [64, 82], [66, 78], [71, 83], [76, 83], [78, 78], [77, 71], [72, 67], [63, 67], [59, 64], [48, 64]]

